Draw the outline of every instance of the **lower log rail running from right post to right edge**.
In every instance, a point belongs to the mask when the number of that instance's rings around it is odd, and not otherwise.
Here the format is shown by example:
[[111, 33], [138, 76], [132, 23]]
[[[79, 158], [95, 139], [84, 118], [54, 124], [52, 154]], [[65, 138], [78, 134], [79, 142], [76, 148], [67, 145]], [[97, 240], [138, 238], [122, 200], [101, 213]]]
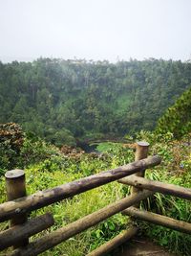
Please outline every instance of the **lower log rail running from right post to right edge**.
[[183, 233], [191, 234], [191, 223], [188, 222], [177, 221], [159, 214], [138, 210], [138, 208], [135, 207], [129, 207], [128, 209], [125, 209], [122, 213], [135, 217], [142, 221], [148, 221]]

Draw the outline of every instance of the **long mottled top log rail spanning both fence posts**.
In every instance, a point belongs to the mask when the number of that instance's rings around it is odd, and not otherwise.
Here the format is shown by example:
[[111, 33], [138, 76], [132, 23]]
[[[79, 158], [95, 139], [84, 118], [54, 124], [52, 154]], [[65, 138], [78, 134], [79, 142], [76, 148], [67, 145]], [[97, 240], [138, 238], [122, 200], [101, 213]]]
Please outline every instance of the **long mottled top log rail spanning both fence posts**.
[[9, 220], [13, 216], [30, 212], [64, 198], [70, 198], [74, 195], [117, 180], [118, 178], [135, 174], [139, 170], [159, 165], [159, 163], [160, 157], [158, 155], [150, 156], [146, 159], [118, 167], [117, 169], [84, 177], [53, 189], [37, 192], [29, 197], [2, 203], [0, 204], [0, 221]]

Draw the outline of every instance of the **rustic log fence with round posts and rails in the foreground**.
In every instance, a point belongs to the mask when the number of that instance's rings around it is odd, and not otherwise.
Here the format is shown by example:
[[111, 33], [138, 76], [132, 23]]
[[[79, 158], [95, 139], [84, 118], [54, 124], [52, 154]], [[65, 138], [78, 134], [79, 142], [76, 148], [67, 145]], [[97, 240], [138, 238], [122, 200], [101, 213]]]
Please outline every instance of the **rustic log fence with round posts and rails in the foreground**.
[[[119, 212], [131, 216], [134, 219], [153, 222], [191, 234], [191, 223], [177, 221], [139, 209], [140, 201], [152, 196], [155, 192], [191, 199], [191, 189], [152, 181], [143, 177], [147, 168], [154, 167], [160, 163], [160, 157], [158, 155], [147, 157], [148, 148], [148, 143], [138, 142], [135, 162], [97, 175], [90, 175], [54, 187], [53, 189], [40, 191], [28, 197], [26, 196], [24, 171], [12, 170], [7, 172], [5, 177], [9, 201], [0, 204], [0, 221], [11, 220], [11, 227], [0, 233], [0, 249], [3, 250], [13, 245], [13, 250], [7, 255], [38, 255]], [[58, 228], [31, 243], [29, 242], [29, 238], [32, 235], [53, 225], [53, 216], [50, 213], [28, 220], [27, 215], [32, 210], [42, 208], [64, 198], [74, 197], [74, 195], [115, 180], [118, 180], [122, 184], [132, 186], [131, 195], [117, 200], [78, 221]], [[113, 240], [96, 248], [88, 256], [104, 255], [118, 245], [131, 239], [137, 232], [138, 227], [132, 226], [122, 231]]]

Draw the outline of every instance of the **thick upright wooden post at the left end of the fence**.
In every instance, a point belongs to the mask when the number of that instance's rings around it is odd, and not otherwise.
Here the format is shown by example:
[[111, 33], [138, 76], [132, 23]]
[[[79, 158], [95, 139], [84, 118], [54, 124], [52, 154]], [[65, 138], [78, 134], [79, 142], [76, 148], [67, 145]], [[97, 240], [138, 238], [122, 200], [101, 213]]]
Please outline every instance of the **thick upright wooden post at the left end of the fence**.
[[[8, 200], [22, 198], [26, 196], [25, 172], [23, 170], [11, 170], [5, 174]], [[16, 209], [19, 211], [19, 208]], [[11, 219], [11, 226], [22, 224], [27, 221], [26, 214], [19, 214]], [[14, 248], [29, 244], [29, 239], [25, 239], [13, 245]]]

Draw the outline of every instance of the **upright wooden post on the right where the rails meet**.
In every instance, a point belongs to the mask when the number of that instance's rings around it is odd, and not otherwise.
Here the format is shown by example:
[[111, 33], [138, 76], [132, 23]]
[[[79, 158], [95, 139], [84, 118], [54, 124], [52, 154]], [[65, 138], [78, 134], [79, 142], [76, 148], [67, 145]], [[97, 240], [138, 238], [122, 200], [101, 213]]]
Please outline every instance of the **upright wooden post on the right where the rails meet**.
[[[148, 155], [148, 151], [149, 151], [149, 143], [148, 142], [145, 142], [145, 141], [139, 141], [137, 142], [137, 145], [136, 145], [136, 155], [135, 155], [135, 160], [138, 161], [138, 160], [141, 160], [141, 159], [144, 159], [147, 157]], [[144, 173], [145, 171], [142, 170], [141, 172], [138, 172], [137, 176], [144, 176]], [[141, 191], [141, 189], [138, 189], [136, 187], [132, 187], [131, 189], [131, 194], [137, 194], [138, 191]], [[139, 203], [135, 206], [139, 206]]]

